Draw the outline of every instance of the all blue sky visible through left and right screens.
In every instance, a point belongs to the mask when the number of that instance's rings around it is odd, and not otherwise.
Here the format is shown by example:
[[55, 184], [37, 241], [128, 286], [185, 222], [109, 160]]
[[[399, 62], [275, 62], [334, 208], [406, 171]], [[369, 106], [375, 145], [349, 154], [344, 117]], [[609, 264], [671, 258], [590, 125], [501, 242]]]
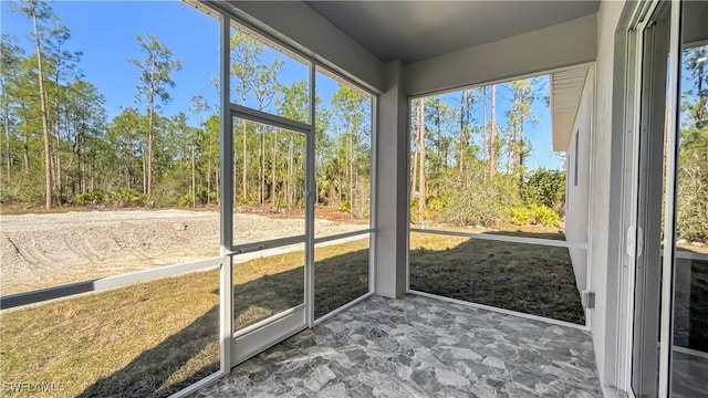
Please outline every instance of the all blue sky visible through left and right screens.
[[[188, 113], [189, 101], [197, 94], [205, 96], [210, 105], [218, 105], [217, 90], [210, 83], [219, 74], [219, 22], [214, 18], [180, 1], [55, 1], [50, 4], [71, 31], [71, 40], [65, 49], [83, 52], [79, 66], [84, 78], [105, 95], [108, 119], [123, 107], [145, 108], [144, 104], [135, 101], [138, 70], [126, 62], [126, 59], [144, 56], [135, 40], [135, 35], [140, 33], [157, 35], [183, 64], [181, 70], [173, 75], [176, 86], [170, 90], [171, 102], [163, 106], [163, 115], [170, 116], [180, 111]], [[2, 1], [0, 6], [2, 33], [15, 35], [25, 52], [32, 53], [33, 48], [28, 39], [30, 21], [24, 15], [11, 12], [11, 2]], [[279, 75], [281, 83], [291, 84], [308, 78], [305, 65], [273, 50], [263, 55], [266, 63], [274, 59], [285, 62]], [[322, 106], [327, 107], [337, 83], [319, 78], [316, 84], [317, 94], [323, 98]], [[548, 90], [548, 84], [545, 87]], [[459, 97], [455, 93], [445, 96], [456, 95]], [[497, 118], [502, 125], [507, 123], [504, 113], [509, 101], [504, 100], [509, 96], [503, 88], [498, 90]], [[236, 100], [233, 94], [232, 100]], [[450, 105], [455, 106], [455, 102], [451, 101]], [[478, 106], [476, 117], [479, 121], [480, 113], [481, 106]], [[530, 169], [558, 168], [559, 159], [551, 151], [550, 112], [543, 101], [533, 105], [533, 113], [540, 123], [527, 125], [525, 128], [527, 137], [533, 143], [533, 153], [527, 166]], [[191, 123], [196, 124], [196, 117], [190, 117]]]

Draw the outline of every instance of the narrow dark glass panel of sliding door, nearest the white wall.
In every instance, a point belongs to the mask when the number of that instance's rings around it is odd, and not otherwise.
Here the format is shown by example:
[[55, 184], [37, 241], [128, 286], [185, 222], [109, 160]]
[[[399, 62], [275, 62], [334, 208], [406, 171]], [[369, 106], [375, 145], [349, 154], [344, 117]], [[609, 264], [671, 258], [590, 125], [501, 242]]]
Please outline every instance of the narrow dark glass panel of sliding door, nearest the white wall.
[[670, 4], [659, 3], [643, 34], [637, 249], [632, 388], [656, 397], [659, 377], [662, 231], [664, 227]]

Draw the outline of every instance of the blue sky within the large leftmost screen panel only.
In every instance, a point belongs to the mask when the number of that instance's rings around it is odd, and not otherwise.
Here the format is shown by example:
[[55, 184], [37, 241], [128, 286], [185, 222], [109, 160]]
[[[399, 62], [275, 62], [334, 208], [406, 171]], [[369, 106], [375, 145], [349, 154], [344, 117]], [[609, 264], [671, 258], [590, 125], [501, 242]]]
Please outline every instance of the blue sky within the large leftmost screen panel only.
[[[204, 95], [212, 105], [218, 93], [209, 83], [219, 73], [219, 25], [209, 15], [177, 1], [56, 1], [54, 13], [71, 31], [66, 50], [81, 51], [80, 69], [85, 80], [106, 97], [108, 117], [121, 107], [139, 106], [135, 102], [138, 70], [126, 59], [142, 59], [135, 35], [152, 33], [171, 49], [183, 67], [173, 75], [176, 87], [164, 114], [187, 111], [189, 100]], [[33, 51], [27, 34], [27, 17], [10, 12], [11, 2], [2, 1], [2, 33], [20, 40], [27, 53]], [[169, 18], [166, 18], [169, 15]]]

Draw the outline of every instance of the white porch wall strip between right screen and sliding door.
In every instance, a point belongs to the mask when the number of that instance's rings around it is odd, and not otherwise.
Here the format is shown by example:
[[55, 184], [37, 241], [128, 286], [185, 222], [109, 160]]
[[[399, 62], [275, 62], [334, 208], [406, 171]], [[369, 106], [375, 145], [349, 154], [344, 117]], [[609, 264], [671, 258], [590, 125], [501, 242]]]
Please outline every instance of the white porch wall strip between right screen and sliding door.
[[[622, 151], [617, 149], [621, 148], [618, 143], [622, 142], [623, 132], [614, 122], [617, 113], [623, 113], [623, 101], [615, 97], [615, 84], [622, 82], [615, 82], [614, 77], [618, 56], [615, 52], [615, 32], [623, 8], [624, 1], [603, 1], [597, 13], [594, 135], [589, 197], [592, 262], [589, 289], [595, 292], [595, 308], [589, 312], [589, 318], [597, 369], [604, 387], [616, 386], [617, 377], [617, 281], [621, 276], [621, 262], [615, 251], [624, 234], [616, 228], [622, 205], [621, 195], [617, 195], [621, 187], [616, 186], [616, 176], [622, 174], [622, 167], [618, 167]], [[616, 168], [615, 178], [612, 177], [612, 168]]]

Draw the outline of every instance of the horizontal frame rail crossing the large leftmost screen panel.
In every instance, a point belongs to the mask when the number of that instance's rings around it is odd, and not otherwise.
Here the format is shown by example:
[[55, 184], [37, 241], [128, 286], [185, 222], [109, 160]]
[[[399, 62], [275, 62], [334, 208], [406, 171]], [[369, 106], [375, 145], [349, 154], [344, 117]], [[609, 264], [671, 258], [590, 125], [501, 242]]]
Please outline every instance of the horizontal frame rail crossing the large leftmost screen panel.
[[211, 266], [218, 266], [222, 263], [223, 258], [217, 256], [186, 262], [181, 264], [166, 265], [150, 270], [136, 271], [122, 275], [106, 276], [95, 280], [64, 284], [60, 286], [40, 289], [31, 292], [8, 294], [0, 297], [0, 310], [8, 310], [21, 305], [29, 305], [50, 300], [69, 297], [82, 293], [121, 287], [140, 282], [149, 282], [160, 277], [178, 275]]

